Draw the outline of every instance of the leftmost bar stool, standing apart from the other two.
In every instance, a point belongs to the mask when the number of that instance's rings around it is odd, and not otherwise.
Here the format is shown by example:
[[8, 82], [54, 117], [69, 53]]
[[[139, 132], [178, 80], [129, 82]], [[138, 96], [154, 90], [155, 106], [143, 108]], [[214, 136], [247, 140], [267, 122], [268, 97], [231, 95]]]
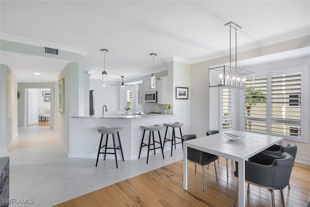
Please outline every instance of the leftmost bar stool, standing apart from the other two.
[[[122, 144], [121, 144], [120, 134], [119, 134], [119, 131], [122, 130], [122, 129], [123, 129], [123, 127], [115, 127], [115, 128], [101, 127], [101, 128], [98, 129], [98, 132], [101, 133], [101, 140], [100, 140], [99, 149], [98, 149], [96, 167], [97, 167], [97, 164], [98, 164], [99, 154], [105, 154], [104, 160], [106, 160], [106, 155], [107, 154], [114, 154], [115, 155], [115, 161], [116, 161], [116, 168], [118, 168], [118, 165], [117, 165], [117, 155], [116, 155], [116, 150], [117, 149], [121, 150], [122, 158], [123, 158], [123, 161], [124, 161], [123, 149], [122, 149]], [[119, 142], [119, 146], [118, 147], [115, 146], [114, 133], [117, 133], [118, 142]], [[107, 135], [106, 144], [101, 146], [104, 134]], [[113, 147], [108, 147], [109, 134], [112, 134]], [[100, 152], [101, 148], [103, 148], [103, 147], [105, 147], [105, 152]], [[107, 149], [114, 149], [114, 153], [113, 152], [107, 152]]]

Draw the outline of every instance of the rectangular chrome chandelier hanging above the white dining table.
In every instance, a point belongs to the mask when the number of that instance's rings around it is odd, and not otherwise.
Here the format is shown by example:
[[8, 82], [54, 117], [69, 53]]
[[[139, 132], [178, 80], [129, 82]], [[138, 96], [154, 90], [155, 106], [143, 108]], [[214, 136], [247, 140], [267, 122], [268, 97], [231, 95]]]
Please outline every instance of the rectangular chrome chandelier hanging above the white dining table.
[[[254, 73], [237, 68], [237, 28], [241, 27], [233, 22], [225, 26], [229, 26], [229, 66], [209, 68], [209, 87], [244, 89], [248, 88], [246, 81], [254, 87]], [[232, 29], [235, 31], [235, 67], [232, 67]]]

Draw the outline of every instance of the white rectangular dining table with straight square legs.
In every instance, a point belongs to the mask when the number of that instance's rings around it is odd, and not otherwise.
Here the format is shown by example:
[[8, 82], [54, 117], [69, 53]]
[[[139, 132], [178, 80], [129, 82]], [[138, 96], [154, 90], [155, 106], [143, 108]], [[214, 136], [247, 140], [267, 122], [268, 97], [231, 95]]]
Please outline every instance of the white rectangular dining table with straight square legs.
[[283, 138], [259, 133], [229, 130], [228, 133], [244, 136], [238, 140], [229, 140], [220, 132], [210, 136], [188, 140], [183, 143], [183, 188], [187, 190], [187, 147], [201, 150], [237, 161], [238, 164], [238, 204], [245, 206], [245, 161], [263, 151], [269, 146], [278, 143], [283, 145]]

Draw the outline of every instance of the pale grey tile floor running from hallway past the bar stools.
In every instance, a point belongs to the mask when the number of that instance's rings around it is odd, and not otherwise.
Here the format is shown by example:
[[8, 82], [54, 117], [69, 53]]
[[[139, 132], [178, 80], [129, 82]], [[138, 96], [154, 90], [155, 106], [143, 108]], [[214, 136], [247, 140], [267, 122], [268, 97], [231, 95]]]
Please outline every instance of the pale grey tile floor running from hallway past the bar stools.
[[[50, 127], [18, 127], [18, 137], [7, 154], [10, 156], [10, 198], [33, 199], [33, 204], [10, 207], [50, 207], [80, 195], [104, 188], [136, 175], [183, 159], [182, 148], [131, 161], [68, 158]], [[99, 138], [99, 137], [98, 137]], [[99, 140], [98, 140], [99, 142]], [[30, 202], [29, 202], [30, 203]]]

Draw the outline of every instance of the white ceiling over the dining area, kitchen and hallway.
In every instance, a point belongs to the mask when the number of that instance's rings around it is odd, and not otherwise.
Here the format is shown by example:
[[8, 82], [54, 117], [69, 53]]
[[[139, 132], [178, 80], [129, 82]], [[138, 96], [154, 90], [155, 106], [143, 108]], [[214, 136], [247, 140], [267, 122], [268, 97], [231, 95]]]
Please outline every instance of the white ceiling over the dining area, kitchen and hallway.
[[[91, 79], [103, 71], [106, 53], [109, 80], [152, 73], [167, 66], [172, 56], [188, 63], [229, 54], [229, 27], [233, 21], [238, 51], [310, 35], [310, 1], [0, 1], [1, 39], [48, 42], [83, 51]], [[233, 36], [234, 38], [234, 36]], [[234, 43], [233, 43], [234, 45]], [[67, 64], [1, 51], [18, 82], [51, 82]], [[229, 61], [229, 60], [228, 60]], [[33, 75], [39, 72], [40, 76]]]

